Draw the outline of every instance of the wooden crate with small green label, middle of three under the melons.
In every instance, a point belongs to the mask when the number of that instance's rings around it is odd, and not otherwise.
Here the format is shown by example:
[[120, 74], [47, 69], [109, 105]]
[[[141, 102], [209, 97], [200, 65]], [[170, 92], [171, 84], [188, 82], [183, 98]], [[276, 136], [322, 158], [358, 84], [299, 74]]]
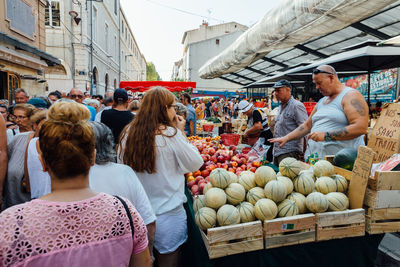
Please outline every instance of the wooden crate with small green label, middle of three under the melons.
[[315, 215], [301, 214], [264, 221], [265, 248], [276, 248], [315, 241]]

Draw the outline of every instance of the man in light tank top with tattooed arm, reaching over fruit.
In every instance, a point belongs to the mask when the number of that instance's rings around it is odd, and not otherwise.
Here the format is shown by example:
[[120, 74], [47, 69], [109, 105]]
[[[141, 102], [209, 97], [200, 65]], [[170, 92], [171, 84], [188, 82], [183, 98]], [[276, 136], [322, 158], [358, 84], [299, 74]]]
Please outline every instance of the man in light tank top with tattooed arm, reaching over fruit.
[[357, 149], [363, 145], [368, 128], [368, 105], [360, 92], [342, 84], [329, 65], [314, 69], [313, 81], [324, 97], [305, 123], [271, 142], [283, 147], [288, 141], [309, 134], [305, 157], [313, 154], [316, 158], [334, 155], [345, 147]]

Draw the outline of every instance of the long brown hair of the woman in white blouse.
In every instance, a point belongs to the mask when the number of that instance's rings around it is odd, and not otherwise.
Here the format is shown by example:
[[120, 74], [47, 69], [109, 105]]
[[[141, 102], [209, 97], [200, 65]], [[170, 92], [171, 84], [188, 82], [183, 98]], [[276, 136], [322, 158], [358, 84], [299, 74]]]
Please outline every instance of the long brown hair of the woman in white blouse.
[[174, 95], [164, 87], [146, 92], [135, 119], [125, 127], [119, 140], [124, 164], [137, 172], [156, 172], [155, 136], [167, 126], [175, 127], [167, 113], [174, 101]]

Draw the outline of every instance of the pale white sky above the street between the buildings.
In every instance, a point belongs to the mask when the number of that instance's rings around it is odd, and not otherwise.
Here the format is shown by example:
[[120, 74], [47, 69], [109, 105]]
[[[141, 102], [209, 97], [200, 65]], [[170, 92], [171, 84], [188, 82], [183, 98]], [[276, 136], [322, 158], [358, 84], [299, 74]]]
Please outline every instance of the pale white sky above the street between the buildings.
[[174, 62], [182, 58], [185, 31], [235, 21], [251, 26], [278, 0], [120, 0], [135, 40], [162, 80], [171, 79]]

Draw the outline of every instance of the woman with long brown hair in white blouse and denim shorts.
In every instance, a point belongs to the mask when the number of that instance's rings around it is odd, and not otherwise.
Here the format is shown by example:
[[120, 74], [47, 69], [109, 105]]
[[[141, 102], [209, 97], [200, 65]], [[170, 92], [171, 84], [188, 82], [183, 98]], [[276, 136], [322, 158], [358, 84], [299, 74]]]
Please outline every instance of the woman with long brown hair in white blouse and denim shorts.
[[154, 248], [158, 266], [178, 266], [179, 248], [187, 239], [184, 174], [203, 164], [175, 108], [171, 92], [163, 87], [150, 89], [120, 139], [119, 160], [136, 172], [157, 217]]

